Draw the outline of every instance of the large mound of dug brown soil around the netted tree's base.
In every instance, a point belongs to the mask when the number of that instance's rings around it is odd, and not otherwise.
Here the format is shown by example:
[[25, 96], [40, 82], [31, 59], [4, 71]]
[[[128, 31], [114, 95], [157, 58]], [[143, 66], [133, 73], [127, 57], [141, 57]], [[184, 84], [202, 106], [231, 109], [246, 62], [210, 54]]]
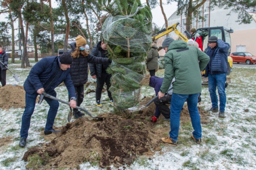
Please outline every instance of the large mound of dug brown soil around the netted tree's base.
[[[140, 104], [151, 98], [145, 97]], [[105, 113], [102, 121], [79, 118], [59, 128], [62, 133], [45, 136], [50, 143], [30, 148], [23, 156], [38, 154], [44, 164], [38, 169], [79, 168], [79, 164], [91, 162], [102, 168], [131, 164], [140, 155], [153, 155], [160, 151], [160, 138], [169, 132], [169, 122], [160, 119], [150, 121], [155, 105], [133, 114]], [[208, 113], [199, 108], [202, 123], [207, 123]], [[187, 107], [181, 112], [181, 123], [190, 121]], [[159, 128], [160, 125], [160, 128]], [[35, 168], [35, 167], [34, 167]]]

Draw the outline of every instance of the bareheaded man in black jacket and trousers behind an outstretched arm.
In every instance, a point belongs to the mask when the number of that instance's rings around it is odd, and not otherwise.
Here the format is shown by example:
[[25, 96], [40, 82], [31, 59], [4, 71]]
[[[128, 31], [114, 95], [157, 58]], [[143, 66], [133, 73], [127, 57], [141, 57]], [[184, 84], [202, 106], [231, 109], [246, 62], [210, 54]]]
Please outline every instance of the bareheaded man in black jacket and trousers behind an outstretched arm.
[[[99, 41], [91, 50], [91, 54], [97, 56], [98, 58], [107, 58], [107, 45], [104, 43], [104, 40]], [[113, 105], [113, 98], [109, 88], [111, 86], [110, 78], [111, 74], [106, 72], [106, 69], [110, 63], [106, 64], [89, 64], [91, 76], [93, 79], [97, 80], [97, 87], [96, 87], [96, 106], [102, 107], [100, 99], [102, 88], [104, 84], [107, 85], [107, 92], [108, 97], [110, 99], [110, 104]]]

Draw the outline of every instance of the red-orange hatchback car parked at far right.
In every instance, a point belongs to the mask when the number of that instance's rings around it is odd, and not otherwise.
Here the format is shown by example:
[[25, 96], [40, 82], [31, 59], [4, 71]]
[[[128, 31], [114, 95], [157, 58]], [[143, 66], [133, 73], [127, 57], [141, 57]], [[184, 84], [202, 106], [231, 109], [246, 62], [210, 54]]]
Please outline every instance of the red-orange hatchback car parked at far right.
[[246, 64], [253, 64], [256, 63], [256, 56], [252, 55], [249, 52], [235, 52], [231, 53], [230, 57], [232, 57], [233, 62], [243, 62]]

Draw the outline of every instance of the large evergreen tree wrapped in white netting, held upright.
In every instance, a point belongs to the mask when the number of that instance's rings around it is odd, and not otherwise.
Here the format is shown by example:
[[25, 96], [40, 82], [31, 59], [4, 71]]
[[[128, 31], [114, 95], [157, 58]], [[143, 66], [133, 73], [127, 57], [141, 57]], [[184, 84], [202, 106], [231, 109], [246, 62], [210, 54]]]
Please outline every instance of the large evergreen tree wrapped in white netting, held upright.
[[152, 14], [140, 0], [115, 0], [103, 26], [104, 41], [112, 63], [111, 88], [118, 110], [139, 103], [141, 81], [146, 75], [145, 56], [151, 46]]

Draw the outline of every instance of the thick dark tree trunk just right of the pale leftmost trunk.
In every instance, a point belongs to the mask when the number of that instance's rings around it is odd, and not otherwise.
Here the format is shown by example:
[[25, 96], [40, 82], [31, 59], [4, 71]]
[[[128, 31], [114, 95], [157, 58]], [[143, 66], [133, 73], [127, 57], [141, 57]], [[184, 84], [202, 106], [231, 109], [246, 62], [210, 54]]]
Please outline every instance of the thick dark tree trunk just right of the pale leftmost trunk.
[[19, 9], [18, 13], [18, 18], [20, 22], [20, 30], [21, 30], [21, 38], [22, 38], [22, 45], [23, 45], [23, 54], [22, 54], [22, 59], [21, 59], [21, 68], [25, 68], [25, 62], [26, 62], [26, 67], [29, 67], [29, 59], [28, 59], [28, 52], [27, 52], [27, 41], [25, 38], [25, 32], [24, 32], [24, 27], [23, 27], [23, 19], [21, 16], [21, 10]]

